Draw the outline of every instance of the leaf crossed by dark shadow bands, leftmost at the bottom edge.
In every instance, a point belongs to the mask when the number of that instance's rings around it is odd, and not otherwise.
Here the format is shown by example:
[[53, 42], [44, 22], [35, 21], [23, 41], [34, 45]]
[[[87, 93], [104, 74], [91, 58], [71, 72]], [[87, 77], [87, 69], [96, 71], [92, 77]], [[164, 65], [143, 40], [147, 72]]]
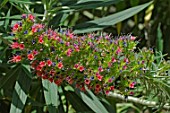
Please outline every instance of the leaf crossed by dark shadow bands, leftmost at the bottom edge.
[[22, 113], [27, 95], [31, 86], [31, 78], [27, 75], [28, 70], [20, 68], [18, 80], [15, 83], [10, 113]]

